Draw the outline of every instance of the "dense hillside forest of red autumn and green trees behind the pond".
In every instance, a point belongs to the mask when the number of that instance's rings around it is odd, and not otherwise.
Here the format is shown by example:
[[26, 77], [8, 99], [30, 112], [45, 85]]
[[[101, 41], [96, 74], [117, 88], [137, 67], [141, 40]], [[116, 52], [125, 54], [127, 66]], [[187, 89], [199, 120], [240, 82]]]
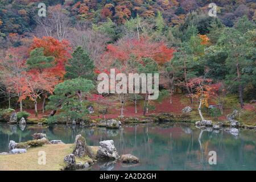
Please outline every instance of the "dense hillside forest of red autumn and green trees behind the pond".
[[[216, 3], [216, 17], [209, 3]], [[50, 123], [84, 119], [90, 106], [104, 117], [123, 116], [129, 105], [146, 115], [166, 100], [166, 107], [177, 105], [181, 94], [200, 107], [202, 121], [230, 108], [253, 119], [255, 21], [253, 0], [0, 0], [1, 112], [49, 115]], [[98, 94], [97, 75], [113, 68], [159, 73], [158, 100]]]

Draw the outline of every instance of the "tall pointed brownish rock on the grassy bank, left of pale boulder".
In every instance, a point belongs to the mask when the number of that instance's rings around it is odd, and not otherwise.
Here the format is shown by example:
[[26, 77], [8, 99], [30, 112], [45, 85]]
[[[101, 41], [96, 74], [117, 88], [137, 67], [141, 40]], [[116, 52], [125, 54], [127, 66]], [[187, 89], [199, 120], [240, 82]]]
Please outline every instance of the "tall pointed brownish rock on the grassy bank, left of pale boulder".
[[90, 147], [87, 146], [85, 138], [81, 135], [77, 135], [75, 139], [75, 149], [73, 151], [73, 154], [75, 156], [78, 156], [79, 158], [88, 155], [90, 158], [93, 158], [93, 153], [90, 150]]

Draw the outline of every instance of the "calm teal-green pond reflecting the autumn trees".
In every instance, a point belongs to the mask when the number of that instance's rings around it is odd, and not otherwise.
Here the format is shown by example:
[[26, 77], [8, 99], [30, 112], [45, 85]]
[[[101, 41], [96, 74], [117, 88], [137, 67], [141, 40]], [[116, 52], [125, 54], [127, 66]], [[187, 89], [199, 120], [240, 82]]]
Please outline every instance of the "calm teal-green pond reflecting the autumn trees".
[[[51, 139], [73, 143], [82, 134], [89, 145], [113, 139], [119, 154], [138, 156], [141, 163], [132, 166], [120, 162], [97, 162], [89, 170], [255, 170], [255, 130], [239, 133], [197, 129], [192, 123], [147, 123], [124, 125], [111, 130], [100, 127], [18, 125], [0, 123], [0, 152], [8, 150], [9, 140], [24, 142], [34, 133], [46, 133]], [[210, 151], [217, 154], [217, 164], [210, 165]]]

